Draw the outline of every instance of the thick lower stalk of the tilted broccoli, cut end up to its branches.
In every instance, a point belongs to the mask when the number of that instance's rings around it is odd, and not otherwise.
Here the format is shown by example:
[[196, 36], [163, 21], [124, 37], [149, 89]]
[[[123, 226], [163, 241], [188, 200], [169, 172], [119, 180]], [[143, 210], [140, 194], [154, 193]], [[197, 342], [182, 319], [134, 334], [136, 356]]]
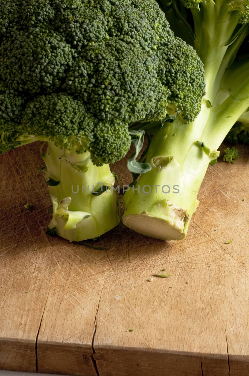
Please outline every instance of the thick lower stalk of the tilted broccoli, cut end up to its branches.
[[199, 203], [199, 187], [211, 161], [196, 143], [196, 140], [205, 142], [201, 139], [202, 124], [209, 112], [210, 109], [204, 108], [188, 125], [180, 124], [177, 118], [154, 134], [146, 158], [151, 171], [142, 174], [137, 184], [124, 194], [124, 225], [162, 240], [186, 237]]

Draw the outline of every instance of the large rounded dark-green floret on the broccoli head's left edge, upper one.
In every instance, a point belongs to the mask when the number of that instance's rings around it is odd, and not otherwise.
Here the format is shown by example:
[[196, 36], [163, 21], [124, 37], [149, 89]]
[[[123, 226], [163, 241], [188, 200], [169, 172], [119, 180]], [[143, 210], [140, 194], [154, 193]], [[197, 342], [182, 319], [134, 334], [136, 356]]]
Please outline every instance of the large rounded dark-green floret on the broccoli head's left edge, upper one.
[[62, 85], [72, 65], [72, 55], [71, 46], [62, 35], [30, 27], [3, 38], [0, 75], [9, 89], [32, 95], [53, 92]]

